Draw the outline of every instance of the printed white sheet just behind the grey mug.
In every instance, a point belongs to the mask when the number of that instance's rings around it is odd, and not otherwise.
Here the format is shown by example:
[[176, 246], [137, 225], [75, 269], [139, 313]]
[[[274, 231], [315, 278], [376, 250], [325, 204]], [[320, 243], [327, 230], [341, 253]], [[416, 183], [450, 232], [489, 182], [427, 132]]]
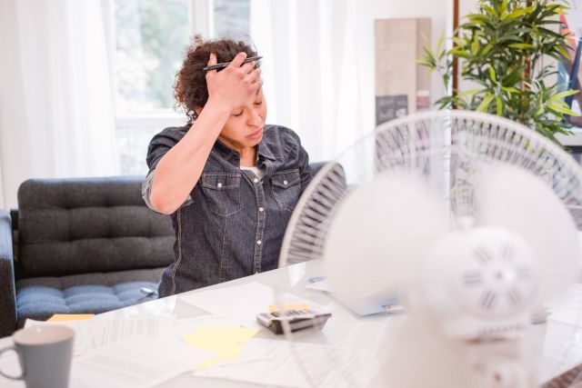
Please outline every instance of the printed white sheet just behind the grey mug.
[[81, 355], [92, 350], [116, 343], [135, 335], [159, 338], [160, 333], [171, 332], [175, 319], [172, 317], [135, 317], [126, 319], [92, 319], [88, 321], [70, 321], [48, 323], [27, 319], [25, 327], [45, 324], [63, 324], [75, 330], [74, 355]]

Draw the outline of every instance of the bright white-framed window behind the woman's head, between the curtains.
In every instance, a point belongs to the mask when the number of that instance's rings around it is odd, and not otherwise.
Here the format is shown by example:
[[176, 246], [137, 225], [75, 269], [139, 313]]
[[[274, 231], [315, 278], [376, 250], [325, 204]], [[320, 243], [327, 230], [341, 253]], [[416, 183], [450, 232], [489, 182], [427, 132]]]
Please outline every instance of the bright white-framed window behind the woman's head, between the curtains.
[[121, 174], [146, 174], [152, 136], [186, 123], [173, 85], [192, 36], [248, 36], [250, 0], [105, 1]]

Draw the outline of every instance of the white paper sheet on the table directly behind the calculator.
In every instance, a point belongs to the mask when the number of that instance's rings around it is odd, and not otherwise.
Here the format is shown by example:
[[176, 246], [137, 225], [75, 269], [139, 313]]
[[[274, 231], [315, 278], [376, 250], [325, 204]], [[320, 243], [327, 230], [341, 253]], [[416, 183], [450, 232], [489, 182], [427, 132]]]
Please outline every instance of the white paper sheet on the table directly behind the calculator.
[[[236, 301], [233, 300], [234, 296]], [[178, 298], [208, 313], [226, 315], [236, 323], [262, 330], [264, 327], [256, 322], [256, 314], [265, 313], [269, 305], [275, 303], [275, 290], [268, 285], [251, 282], [202, 293], [178, 295]], [[284, 303], [309, 303], [312, 308], [323, 310], [323, 306], [288, 293], [282, 295], [281, 299]]]

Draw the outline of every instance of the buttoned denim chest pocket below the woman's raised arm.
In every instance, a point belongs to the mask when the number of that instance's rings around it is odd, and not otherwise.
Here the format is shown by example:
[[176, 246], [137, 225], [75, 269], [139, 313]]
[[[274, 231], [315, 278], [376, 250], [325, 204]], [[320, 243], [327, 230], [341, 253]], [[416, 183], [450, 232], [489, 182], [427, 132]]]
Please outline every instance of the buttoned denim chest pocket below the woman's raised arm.
[[202, 190], [208, 207], [218, 215], [231, 215], [242, 209], [240, 201], [240, 174], [204, 173]]

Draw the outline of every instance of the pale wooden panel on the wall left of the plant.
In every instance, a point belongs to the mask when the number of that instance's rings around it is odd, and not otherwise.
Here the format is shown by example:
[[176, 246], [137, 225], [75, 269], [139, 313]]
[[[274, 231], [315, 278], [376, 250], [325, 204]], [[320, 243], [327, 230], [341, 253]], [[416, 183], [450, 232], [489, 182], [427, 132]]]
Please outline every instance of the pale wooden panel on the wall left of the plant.
[[376, 125], [430, 108], [428, 69], [416, 65], [430, 42], [430, 19], [378, 19]]

